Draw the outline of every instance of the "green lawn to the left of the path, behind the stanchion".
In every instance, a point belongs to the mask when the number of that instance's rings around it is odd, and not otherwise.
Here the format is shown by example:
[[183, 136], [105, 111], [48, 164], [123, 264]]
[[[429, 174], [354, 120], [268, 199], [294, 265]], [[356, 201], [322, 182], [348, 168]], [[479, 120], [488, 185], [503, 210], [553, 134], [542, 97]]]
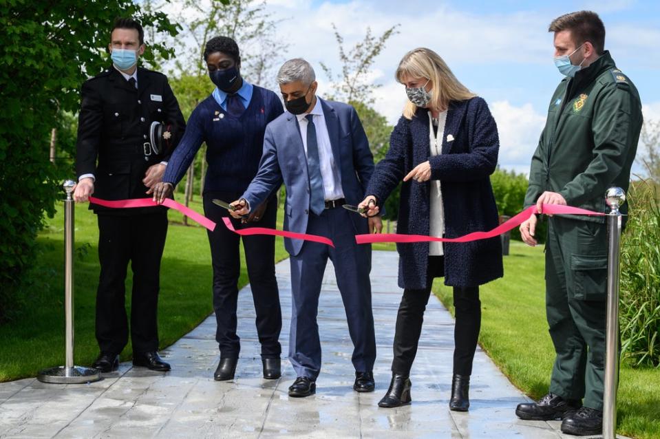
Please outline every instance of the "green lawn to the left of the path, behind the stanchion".
[[[199, 200], [199, 199], [198, 199]], [[39, 254], [34, 261], [34, 281], [23, 291], [19, 317], [0, 325], [0, 382], [35, 376], [39, 370], [64, 363], [64, 281], [62, 204], [39, 234]], [[199, 201], [191, 208], [202, 212]], [[75, 362], [89, 365], [98, 354], [94, 337], [94, 303], [98, 284], [98, 227], [96, 215], [87, 204], [76, 206], [75, 265]], [[206, 230], [182, 215], [169, 212], [170, 225], [162, 258], [158, 332], [160, 347], [171, 345], [213, 312], [211, 299], [211, 252]], [[281, 210], [278, 215], [281, 228]], [[220, 227], [224, 227], [219, 224]], [[288, 257], [277, 237], [275, 257]], [[248, 282], [241, 247], [239, 287]], [[130, 273], [130, 270], [129, 270]], [[127, 308], [130, 312], [131, 275], [127, 279]], [[121, 354], [130, 358], [131, 345]]]

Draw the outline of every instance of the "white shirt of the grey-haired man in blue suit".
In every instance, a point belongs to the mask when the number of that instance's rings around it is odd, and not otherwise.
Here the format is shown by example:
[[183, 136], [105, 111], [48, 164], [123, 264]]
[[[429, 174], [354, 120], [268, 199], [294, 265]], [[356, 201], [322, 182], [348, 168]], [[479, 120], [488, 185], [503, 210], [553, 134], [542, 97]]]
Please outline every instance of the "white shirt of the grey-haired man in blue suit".
[[[326, 200], [339, 200], [343, 198], [343, 189], [341, 189], [341, 175], [339, 174], [339, 167], [337, 167], [332, 155], [332, 145], [330, 144], [330, 136], [328, 136], [328, 127], [326, 126], [326, 117], [323, 116], [323, 107], [321, 107], [321, 100], [317, 98], [317, 103], [314, 105], [312, 111], [312, 120], [317, 131], [317, 144], [319, 145], [319, 166], [321, 167], [321, 178], [323, 178], [323, 192], [325, 192]], [[300, 128], [300, 136], [303, 140], [303, 147], [305, 148], [305, 156], [307, 156], [307, 125], [309, 122], [306, 118], [307, 114], [297, 114], [298, 127]]]

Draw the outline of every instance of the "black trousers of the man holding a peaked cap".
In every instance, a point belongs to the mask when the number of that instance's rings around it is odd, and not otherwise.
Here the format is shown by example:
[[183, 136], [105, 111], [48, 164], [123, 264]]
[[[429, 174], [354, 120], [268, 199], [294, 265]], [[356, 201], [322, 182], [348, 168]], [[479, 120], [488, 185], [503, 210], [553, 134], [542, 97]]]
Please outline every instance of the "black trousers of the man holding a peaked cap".
[[158, 350], [160, 259], [167, 236], [167, 211], [145, 215], [98, 215], [100, 277], [96, 291], [96, 340], [101, 352], [118, 354], [128, 343], [125, 281], [133, 270], [133, 352]]

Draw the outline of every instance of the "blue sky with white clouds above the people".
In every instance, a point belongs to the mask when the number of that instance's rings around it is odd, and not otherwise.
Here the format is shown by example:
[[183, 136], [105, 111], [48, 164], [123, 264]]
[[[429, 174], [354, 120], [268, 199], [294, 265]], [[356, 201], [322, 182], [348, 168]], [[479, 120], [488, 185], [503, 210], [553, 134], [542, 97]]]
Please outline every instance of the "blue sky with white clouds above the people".
[[[660, 1], [418, 1], [267, 0], [282, 19], [277, 38], [289, 44], [286, 58], [306, 58], [317, 72], [319, 96], [332, 86], [320, 63], [339, 72], [332, 24], [348, 49], [366, 28], [398, 34], [376, 58], [370, 79], [379, 85], [374, 107], [394, 125], [405, 103], [394, 71], [405, 52], [429, 47], [456, 77], [485, 98], [500, 133], [500, 167], [527, 173], [546, 110], [562, 75], [553, 64], [549, 23], [567, 12], [593, 10], [606, 28], [606, 49], [637, 86], [644, 118], [660, 120]], [[638, 154], [639, 155], [639, 154]], [[636, 167], [639, 171], [639, 167]], [[635, 170], [635, 169], [634, 169]]]

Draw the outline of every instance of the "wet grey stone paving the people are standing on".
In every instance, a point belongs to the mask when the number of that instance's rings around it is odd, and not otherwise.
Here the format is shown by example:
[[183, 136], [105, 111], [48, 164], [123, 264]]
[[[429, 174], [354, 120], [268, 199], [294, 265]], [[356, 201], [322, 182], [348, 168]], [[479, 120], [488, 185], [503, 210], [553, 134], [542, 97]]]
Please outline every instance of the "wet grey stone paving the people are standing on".
[[[233, 381], [213, 381], [220, 355], [211, 316], [162, 352], [173, 367], [167, 374], [122, 363], [118, 372], [105, 374], [97, 383], [49, 385], [31, 378], [0, 384], [0, 438], [564, 437], [560, 422], [526, 422], [515, 417], [515, 405], [529, 399], [480, 349], [471, 378], [470, 411], [449, 411], [454, 321], [434, 298], [427, 306], [411, 374], [412, 405], [377, 407], [390, 381], [394, 321], [401, 301], [397, 262], [396, 253], [374, 252], [378, 359], [373, 394], [352, 390], [352, 344], [334, 268], [328, 264], [319, 300], [323, 368], [315, 396], [288, 397], [287, 387], [295, 374], [286, 359], [281, 379], [262, 378], [255, 312], [247, 286], [239, 293], [242, 348]], [[286, 352], [291, 307], [288, 261], [277, 264], [277, 281]]]

